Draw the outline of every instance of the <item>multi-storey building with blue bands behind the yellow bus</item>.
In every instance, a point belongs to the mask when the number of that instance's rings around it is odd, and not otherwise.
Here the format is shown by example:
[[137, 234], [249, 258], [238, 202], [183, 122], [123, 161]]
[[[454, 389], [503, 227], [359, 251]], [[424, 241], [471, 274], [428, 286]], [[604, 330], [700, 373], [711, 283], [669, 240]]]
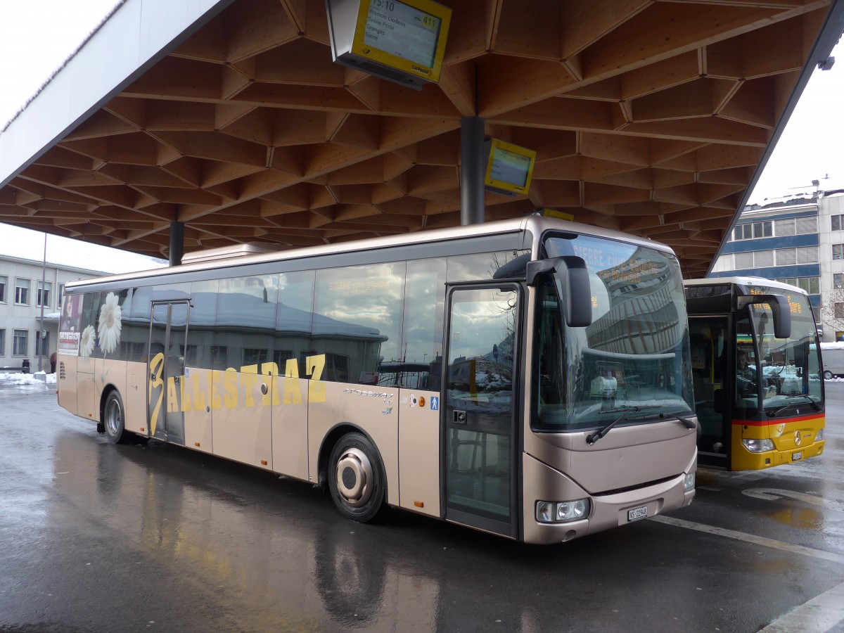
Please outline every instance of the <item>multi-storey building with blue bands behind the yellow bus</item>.
[[803, 288], [821, 340], [844, 340], [844, 191], [745, 208], [710, 273], [731, 275]]

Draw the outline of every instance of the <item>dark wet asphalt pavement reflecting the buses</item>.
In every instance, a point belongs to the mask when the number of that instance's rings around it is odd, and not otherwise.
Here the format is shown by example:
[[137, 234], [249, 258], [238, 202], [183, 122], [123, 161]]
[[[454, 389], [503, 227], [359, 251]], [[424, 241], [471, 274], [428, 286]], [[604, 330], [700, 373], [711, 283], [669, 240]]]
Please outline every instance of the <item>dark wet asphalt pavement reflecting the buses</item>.
[[844, 382], [825, 455], [698, 471], [668, 517], [530, 546], [157, 441], [0, 386], [0, 631], [844, 631]]

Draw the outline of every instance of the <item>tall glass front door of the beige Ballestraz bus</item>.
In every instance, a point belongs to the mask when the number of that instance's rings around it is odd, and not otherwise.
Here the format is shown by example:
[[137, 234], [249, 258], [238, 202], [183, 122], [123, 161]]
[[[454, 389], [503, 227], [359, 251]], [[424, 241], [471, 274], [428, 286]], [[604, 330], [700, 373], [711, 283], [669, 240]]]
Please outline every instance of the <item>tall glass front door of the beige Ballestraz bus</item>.
[[517, 536], [516, 284], [451, 286], [443, 378], [446, 520]]

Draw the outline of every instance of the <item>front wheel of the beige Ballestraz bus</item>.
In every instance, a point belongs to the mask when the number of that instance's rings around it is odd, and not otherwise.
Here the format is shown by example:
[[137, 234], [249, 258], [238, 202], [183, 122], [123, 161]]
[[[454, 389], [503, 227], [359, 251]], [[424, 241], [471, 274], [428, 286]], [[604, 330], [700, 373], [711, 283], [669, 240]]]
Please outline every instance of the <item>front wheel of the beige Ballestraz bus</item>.
[[340, 438], [328, 463], [328, 488], [344, 517], [365, 523], [384, 501], [384, 467], [372, 442], [361, 433]]

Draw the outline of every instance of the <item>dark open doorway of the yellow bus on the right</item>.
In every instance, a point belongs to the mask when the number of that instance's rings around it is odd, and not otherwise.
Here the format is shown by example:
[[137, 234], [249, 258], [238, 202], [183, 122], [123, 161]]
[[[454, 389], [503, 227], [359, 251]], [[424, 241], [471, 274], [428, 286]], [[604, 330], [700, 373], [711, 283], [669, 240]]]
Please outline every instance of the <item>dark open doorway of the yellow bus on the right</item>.
[[690, 317], [689, 338], [699, 423], [697, 460], [701, 466], [728, 468], [733, 378], [727, 371], [727, 317]]

